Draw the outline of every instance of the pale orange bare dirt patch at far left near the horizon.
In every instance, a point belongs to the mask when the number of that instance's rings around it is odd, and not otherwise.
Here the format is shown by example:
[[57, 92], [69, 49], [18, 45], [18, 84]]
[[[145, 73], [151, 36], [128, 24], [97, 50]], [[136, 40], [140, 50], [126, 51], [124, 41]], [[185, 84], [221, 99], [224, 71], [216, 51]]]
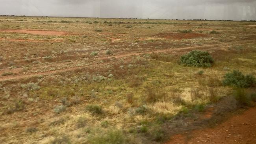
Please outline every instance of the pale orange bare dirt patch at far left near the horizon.
[[64, 31], [45, 31], [45, 30], [0, 30], [0, 32], [12, 33], [28, 33], [33, 35], [65, 35], [68, 34]]

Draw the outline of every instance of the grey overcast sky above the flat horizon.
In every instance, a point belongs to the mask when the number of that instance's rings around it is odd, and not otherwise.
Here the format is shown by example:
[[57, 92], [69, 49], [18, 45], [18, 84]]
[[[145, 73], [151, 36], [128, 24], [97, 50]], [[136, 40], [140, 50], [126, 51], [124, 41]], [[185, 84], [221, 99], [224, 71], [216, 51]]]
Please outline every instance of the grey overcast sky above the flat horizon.
[[256, 20], [256, 0], [0, 0], [0, 15]]

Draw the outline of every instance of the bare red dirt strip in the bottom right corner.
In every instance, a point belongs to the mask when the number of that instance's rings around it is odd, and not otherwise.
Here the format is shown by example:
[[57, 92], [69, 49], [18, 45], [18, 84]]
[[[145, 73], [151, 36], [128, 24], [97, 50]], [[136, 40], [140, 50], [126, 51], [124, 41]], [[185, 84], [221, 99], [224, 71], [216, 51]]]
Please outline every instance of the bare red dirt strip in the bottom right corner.
[[256, 107], [214, 127], [178, 134], [165, 144], [255, 144]]

